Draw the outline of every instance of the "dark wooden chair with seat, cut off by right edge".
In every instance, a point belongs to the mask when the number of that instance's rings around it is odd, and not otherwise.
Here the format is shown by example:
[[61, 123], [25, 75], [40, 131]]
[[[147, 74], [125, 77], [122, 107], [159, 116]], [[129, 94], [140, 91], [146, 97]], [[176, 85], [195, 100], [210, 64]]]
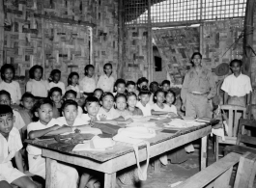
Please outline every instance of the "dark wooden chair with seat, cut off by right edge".
[[[237, 145], [235, 146], [228, 146], [224, 148], [224, 153], [227, 154], [229, 152], [237, 152], [240, 154], [245, 153], [246, 151], [256, 153], [256, 137], [248, 136], [246, 134], [246, 127], [256, 128], [256, 121], [255, 120], [240, 120], [239, 125], [239, 132], [238, 132], [238, 140]], [[248, 133], [248, 132], [247, 132]], [[255, 148], [246, 147], [246, 145], [255, 146]]]

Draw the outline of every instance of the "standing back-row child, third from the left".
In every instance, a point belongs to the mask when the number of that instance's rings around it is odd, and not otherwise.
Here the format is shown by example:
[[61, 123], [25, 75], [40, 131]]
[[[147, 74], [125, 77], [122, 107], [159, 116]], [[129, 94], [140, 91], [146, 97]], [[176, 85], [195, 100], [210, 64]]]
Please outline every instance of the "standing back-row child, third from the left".
[[53, 69], [50, 72], [49, 76], [49, 90], [55, 87], [58, 87], [62, 90], [62, 94], [65, 94], [65, 84], [60, 81], [61, 80], [61, 70]]

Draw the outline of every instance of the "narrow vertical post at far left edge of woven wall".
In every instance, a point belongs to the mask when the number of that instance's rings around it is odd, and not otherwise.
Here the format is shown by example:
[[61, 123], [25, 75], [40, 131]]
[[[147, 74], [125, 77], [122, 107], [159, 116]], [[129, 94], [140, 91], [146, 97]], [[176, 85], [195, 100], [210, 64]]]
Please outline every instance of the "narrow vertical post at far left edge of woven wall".
[[5, 42], [5, 12], [4, 0], [0, 0], [0, 67], [4, 64], [4, 42]]

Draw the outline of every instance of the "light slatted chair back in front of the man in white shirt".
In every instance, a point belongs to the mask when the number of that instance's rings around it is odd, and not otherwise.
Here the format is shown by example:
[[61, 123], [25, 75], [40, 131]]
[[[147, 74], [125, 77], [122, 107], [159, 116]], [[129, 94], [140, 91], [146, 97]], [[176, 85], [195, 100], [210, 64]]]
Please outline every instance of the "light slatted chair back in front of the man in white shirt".
[[238, 127], [239, 127], [239, 116], [242, 112], [242, 118], [245, 119], [246, 116], [246, 108], [242, 106], [236, 105], [221, 105], [220, 109], [224, 114], [228, 111], [228, 136], [229, 137], [237, 137], [238, 135]]

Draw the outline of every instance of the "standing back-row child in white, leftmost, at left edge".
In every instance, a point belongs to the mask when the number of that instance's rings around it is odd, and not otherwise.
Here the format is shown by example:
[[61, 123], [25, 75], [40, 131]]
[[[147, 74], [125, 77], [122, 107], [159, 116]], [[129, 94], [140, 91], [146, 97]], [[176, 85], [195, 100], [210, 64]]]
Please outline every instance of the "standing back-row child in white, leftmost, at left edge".
[[5, 64], [1, 67], [0, 90], [5, 90], [11, 94], [12, 103], [19, 104], [21, 98], [20, 86], [18, 82], [14, 81], [15, 69], [11, 64]]

